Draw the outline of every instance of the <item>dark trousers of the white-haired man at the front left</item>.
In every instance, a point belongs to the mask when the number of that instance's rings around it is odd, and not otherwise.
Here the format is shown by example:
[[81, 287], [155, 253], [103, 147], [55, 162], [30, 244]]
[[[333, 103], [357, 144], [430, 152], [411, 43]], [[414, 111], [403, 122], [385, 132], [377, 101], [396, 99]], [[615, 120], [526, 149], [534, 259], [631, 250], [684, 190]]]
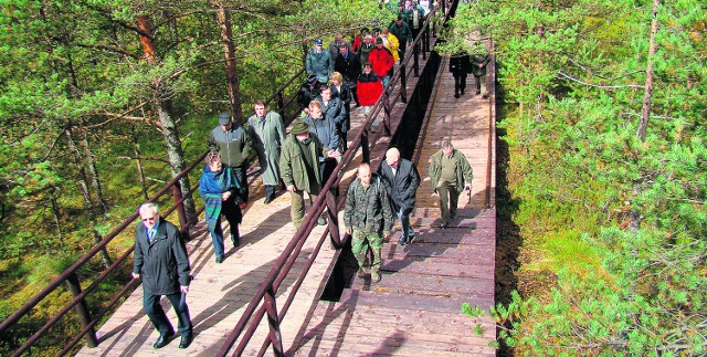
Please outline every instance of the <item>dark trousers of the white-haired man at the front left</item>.
[[[191, 325], [191, 318], [189, 317], [189, 307], [187, 306], [187, 302], [181, 304], [181, 292], [166, 296], [177, 313], [177, 318], [179, 319], [177, 330], [179, 334], [181, 336], [191, 334], [193, 326]], [[145, 307], [147, 317], [149, 317], [152, 325], [155, 325], [155, 329], [157, 329], [160, 335], [170, 335], [175, 332], [175, 328], [167, 318], [167, 314], [165, 314], [162, 305], [159, 304], [160, 297], [161, 295], [152, 295], [147, 292], [144, 293], [143, 307]]]

